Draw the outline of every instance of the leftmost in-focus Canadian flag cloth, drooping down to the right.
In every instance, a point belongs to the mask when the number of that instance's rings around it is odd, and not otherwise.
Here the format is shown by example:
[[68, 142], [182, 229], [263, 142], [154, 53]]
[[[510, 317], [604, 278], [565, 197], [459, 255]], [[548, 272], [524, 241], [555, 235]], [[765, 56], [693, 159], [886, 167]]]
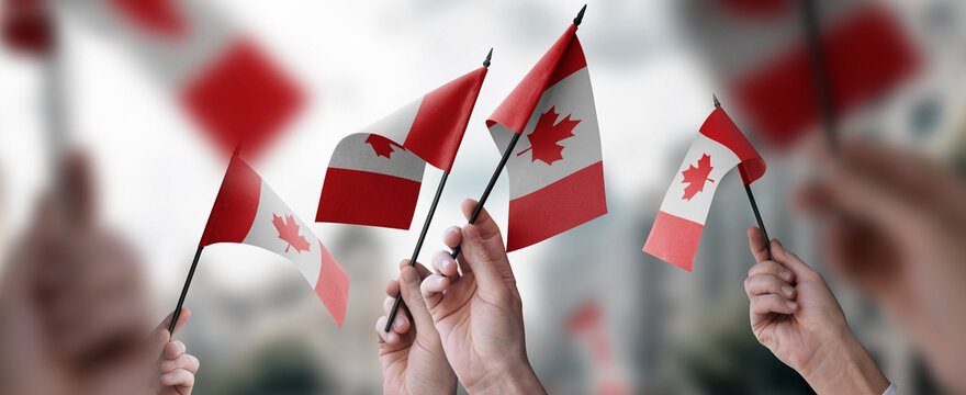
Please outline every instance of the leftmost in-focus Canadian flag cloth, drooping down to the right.
[[238, 157], [225, 180], [201, 238], [201, 247], [240, 242], [290, 260], [325, 304], [339, 328], [346, 317], [349, 276], [292, 210]]

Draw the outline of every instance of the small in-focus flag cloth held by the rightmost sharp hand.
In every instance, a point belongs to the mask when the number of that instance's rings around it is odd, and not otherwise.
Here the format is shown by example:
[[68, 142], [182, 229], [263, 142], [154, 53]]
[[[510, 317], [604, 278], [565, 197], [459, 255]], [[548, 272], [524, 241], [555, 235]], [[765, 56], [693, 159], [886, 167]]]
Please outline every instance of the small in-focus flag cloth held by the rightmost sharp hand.
[[690, 271], [715, 190], [734, 167], [745, 184], [765, 173], [764, 159], [719, 108], [701, 125], [675, 173], [644, 252]]

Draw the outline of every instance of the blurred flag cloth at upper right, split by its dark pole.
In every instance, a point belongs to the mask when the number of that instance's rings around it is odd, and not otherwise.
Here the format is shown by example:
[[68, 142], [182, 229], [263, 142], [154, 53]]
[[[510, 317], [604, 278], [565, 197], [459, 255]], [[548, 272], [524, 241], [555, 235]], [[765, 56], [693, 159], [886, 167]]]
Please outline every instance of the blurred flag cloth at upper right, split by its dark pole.
[[[916, 75], [918, 50], [887, 5], [815, 0], [833, 111], [856, 113]], [[783, 147], [819, 123], [819, 95], [797, 1], [695, 1], [687, 20], [708, 64], [755, 129]], [[727, 98], [726, 98], [727, 99]]]

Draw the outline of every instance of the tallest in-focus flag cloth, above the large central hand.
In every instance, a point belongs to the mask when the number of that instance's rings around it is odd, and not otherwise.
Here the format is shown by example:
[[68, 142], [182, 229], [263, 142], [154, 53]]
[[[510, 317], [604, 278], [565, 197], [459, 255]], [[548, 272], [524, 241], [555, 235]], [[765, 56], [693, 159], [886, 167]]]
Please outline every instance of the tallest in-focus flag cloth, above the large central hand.
[[607, 213], [597, 111], [576, 30], [563, 33], [486, 121], [501, 153], [520, 134], [507, 161], [507, 251]]

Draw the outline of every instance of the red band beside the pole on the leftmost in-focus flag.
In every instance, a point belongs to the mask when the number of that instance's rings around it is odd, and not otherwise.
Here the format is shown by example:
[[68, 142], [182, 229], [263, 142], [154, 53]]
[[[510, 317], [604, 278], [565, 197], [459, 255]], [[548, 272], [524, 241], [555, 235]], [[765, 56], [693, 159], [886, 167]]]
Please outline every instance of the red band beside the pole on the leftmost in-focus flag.
[[261, 194], [261, 177], [233, 157], [201, 236], [201, 246], [242, 242], [255, 222]]

